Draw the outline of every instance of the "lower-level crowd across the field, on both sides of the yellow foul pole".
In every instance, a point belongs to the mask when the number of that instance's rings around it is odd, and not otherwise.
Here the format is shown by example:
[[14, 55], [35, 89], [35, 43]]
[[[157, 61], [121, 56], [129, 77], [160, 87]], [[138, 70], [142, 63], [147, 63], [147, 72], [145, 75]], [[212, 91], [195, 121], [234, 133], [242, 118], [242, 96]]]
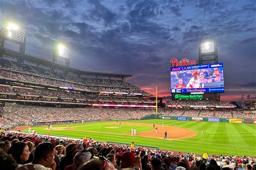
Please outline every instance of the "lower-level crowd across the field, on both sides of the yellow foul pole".
[[[155, 115], [154, 108], [59, 108], [34, 107], [8, 103], [4, 108], [5, 114], [1, 116], [1, 127], [15, 125], [42, 124], [45, 122], [81, 122], [101, 120], [140, 120], [147, 115]], [[191, 116], [191, 117], [219, 117], [255, 119], [256, 113], [239, 109], [201, 110], [201, 109], [172, 109], [158, 108], [162, 116]]]

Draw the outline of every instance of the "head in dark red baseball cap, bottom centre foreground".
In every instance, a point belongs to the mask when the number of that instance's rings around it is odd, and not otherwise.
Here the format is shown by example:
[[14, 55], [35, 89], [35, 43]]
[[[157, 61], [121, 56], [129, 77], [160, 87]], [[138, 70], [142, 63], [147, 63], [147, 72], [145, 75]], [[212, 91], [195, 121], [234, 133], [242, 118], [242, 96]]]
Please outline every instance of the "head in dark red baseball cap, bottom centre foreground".
[[120, 159], [121, 168], [133, 168], [135, 162], [135, 156], [132, 152], [123, 152], [122, 154], [116, 154], [116, 159]]

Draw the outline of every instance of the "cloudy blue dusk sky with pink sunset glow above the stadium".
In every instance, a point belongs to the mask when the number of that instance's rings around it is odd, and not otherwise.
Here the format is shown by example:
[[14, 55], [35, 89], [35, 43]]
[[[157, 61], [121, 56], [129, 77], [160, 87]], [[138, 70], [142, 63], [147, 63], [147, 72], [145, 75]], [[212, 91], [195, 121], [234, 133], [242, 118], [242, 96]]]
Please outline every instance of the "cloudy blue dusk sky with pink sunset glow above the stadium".
[[[25, 31], [25, 54], [52, 61], [54, 45], [61, 42], [70, 49], [72, 68], [133, 75], [127, 82], [151, 94], [157, 86], [166, 99], [171, 58], [198, 61], [200, 43], [212, 40], [224, 63], [220, 100], [255, 98], [254, 0], [207, 0], [206, 9], [205, 1], [196, 0], [0, 3], [1, 28], [14, 23]], [[8, 42], [5, 47], [19, 49]]]

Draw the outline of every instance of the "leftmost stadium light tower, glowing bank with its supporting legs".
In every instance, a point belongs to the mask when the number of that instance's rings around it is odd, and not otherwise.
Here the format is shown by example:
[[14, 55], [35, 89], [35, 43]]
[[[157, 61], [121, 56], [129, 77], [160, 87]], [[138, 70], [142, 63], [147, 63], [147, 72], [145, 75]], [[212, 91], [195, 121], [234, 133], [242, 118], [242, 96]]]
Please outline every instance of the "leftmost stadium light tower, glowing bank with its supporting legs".
[[[25, 31], [19, 29], [15, 24], [9, 24], [1, 28], [1, 48], [4, 48], [4, 40], [8, 40], [19, 45], [19, 53], [25, 54], [26, 37]], [[2, 54], [0, 56], [2, 58]]]

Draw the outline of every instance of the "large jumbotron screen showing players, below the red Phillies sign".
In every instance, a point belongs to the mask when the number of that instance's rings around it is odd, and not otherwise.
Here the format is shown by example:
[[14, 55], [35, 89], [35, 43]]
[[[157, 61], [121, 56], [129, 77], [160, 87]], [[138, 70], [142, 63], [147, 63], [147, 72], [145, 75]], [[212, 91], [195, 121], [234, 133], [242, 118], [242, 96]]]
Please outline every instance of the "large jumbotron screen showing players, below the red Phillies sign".
[[223, 63], [170, 69], [171, 93], [224, 93]]

